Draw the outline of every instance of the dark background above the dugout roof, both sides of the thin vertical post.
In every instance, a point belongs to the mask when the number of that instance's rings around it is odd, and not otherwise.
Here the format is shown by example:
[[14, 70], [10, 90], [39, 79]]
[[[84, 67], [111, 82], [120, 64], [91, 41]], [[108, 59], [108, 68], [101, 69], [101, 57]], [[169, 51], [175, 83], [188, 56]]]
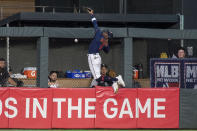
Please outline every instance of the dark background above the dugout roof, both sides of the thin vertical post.
[[[180, 12], [180, 0], [35, 0], [37, 6], [56, 6], [67, 8], [63, 12], [71, 12], [74, 7], [88, 6], [97, 13], [119, 13], [127, 8], [130, 14], [176, 14]], [[122, 7], [121, 7], [122, 6]], [[59, 9], [60, 11], [60, 9]]]

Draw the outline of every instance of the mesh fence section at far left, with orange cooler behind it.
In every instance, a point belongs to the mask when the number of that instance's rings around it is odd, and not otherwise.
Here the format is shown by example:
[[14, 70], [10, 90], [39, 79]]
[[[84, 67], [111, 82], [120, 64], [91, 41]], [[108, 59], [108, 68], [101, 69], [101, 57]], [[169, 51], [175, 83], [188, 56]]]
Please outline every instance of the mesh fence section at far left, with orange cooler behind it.
[[[6, 60], [5, 68], [19, 87], [36, 86], [36, 39], [1, 38], [0, 57]], [[14, 86], [9, 82], [6, 86]]]

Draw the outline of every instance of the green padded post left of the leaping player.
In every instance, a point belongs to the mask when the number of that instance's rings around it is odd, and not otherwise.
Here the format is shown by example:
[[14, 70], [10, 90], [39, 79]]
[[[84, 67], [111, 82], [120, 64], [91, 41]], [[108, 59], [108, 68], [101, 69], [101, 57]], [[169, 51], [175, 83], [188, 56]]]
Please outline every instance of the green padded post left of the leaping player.
[[48, 87], [49, 38], [40, 37], [37, 41], [37, 87]]

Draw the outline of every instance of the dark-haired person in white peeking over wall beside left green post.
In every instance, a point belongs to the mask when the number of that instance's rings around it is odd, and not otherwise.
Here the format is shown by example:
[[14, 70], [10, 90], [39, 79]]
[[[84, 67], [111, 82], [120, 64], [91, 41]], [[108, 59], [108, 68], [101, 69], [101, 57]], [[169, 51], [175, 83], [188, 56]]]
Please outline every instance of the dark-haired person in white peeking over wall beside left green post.
[[57, 82], [57, 72], [56, 71], [51, 71], [49, 73], [48, 87], [49, 88], [57, 88], [57, 87], [59, 87], [59, 84]]

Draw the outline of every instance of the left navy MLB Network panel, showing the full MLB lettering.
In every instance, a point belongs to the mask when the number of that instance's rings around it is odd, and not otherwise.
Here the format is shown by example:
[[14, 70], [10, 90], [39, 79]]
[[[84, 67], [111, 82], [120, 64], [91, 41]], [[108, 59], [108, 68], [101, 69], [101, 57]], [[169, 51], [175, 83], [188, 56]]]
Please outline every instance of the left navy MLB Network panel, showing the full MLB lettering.
[[164, 59], [151, 60], [151, 87], [181, 87], [181, 63]]

